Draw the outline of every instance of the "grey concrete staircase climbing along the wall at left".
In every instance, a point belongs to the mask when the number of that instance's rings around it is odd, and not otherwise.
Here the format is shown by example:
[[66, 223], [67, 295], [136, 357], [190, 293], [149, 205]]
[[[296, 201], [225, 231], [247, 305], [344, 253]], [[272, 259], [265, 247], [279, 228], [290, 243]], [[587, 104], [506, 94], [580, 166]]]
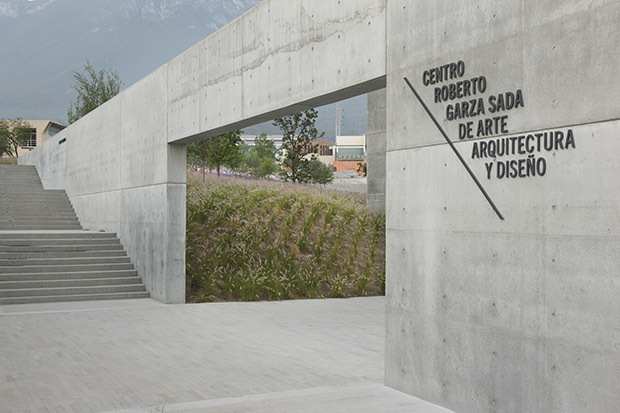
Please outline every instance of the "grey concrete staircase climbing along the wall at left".
[[0, 305], [146, 297], [115, 234], [81, 231], [34, 167], [0, 165]]

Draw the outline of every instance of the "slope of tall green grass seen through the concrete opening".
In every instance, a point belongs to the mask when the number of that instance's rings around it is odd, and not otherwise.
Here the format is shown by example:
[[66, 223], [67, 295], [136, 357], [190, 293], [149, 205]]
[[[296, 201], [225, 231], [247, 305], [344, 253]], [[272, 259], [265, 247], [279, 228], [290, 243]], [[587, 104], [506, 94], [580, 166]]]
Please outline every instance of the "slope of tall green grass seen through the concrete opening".
[[385, 217], [360, 194], [190, 173], [188, 302], [380, 295]]

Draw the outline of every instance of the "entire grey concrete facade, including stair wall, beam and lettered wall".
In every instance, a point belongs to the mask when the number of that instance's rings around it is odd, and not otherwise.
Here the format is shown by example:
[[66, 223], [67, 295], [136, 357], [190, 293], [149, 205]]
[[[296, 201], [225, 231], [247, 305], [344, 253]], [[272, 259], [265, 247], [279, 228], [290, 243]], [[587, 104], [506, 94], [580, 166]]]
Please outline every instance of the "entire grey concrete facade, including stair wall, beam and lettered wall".
[[608, 0], [266, 0], [22, 162], [180, 302], [177, 143], [386, 87], [386, 384], [459, 412], [615, 412], [619, 17]]

